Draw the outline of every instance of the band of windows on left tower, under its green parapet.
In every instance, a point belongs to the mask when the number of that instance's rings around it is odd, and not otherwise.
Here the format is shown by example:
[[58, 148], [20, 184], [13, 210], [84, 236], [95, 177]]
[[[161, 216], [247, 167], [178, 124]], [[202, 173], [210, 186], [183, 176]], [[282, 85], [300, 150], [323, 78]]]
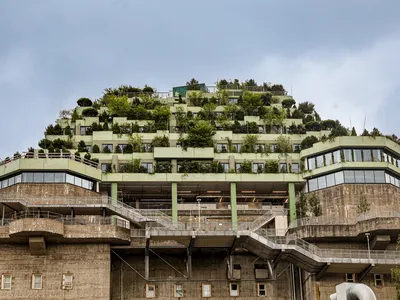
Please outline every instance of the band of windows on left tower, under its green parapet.
[[24, 172], [0, 181], [0, 189], [4, 189], [17, 183], [70, 183], [88, 190], [94, 190], [95, 187], [93, 181], [68, 173]]

